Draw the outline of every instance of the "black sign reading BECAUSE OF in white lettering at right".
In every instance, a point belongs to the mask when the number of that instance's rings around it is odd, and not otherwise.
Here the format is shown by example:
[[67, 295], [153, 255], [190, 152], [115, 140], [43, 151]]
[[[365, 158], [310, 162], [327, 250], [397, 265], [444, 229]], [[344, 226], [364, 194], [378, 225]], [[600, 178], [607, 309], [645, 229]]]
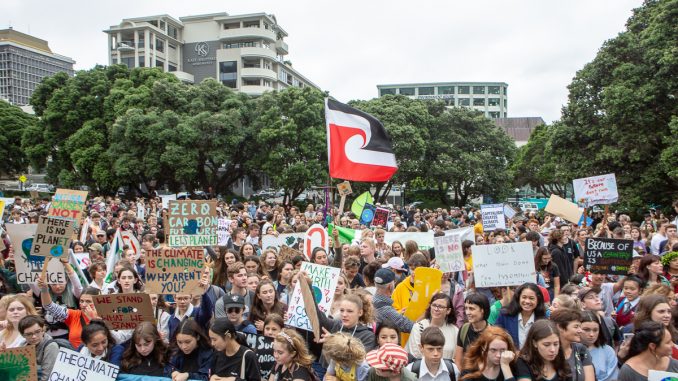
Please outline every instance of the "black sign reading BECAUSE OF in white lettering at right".
[[587, 238], [584, 250], [586, 270], [597, 274], [626, 275], [633, 257], [630, 239]]

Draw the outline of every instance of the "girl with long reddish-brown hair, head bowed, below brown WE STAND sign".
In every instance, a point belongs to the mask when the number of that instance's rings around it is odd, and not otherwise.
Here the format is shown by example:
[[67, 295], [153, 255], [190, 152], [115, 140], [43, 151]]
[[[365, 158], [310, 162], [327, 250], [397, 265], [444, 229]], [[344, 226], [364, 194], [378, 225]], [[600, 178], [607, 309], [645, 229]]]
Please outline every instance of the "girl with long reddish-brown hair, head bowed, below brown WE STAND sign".
[[158, 328], [142, 322], [132, 333], [132, 340], [122, 355], [121, 373], [142, 376], [162, 376], [165, 370], [167, 346]]

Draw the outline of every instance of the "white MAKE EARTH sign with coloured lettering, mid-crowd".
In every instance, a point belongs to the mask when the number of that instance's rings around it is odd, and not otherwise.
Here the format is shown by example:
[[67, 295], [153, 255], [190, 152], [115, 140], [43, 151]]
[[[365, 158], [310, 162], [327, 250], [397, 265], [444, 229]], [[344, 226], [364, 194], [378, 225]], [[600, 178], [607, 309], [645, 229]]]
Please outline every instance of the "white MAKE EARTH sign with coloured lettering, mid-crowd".
[[[318, 303], [320, 312], [327, 313], [332, 308], [334, 290], [337, 288], [340, 269], [330, 266], [316, 265], [315, 263], [302, 262], [301, 270], [306, 271], [313, 285], [313, 298]], [[294, 291], [289, 298], [287, 309], [288, 318], [285, 324], [292, 327], [312, 331], [313, 327], [308, 318], [307, 308], [301, 293], [301, 282], [297, 282]]]

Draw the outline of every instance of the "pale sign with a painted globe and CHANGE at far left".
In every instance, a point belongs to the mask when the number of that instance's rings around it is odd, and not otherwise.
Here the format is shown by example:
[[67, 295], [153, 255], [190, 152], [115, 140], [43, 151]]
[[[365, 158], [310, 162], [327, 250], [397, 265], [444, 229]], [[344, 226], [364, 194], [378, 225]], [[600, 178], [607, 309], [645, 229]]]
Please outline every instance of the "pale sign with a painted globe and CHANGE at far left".
[[[16, 280], [19, 284], [33, 284], [38, 282], [45, 264], [45, 257], [32, 255], [33, 236], [38, 224], [7, 224], [7, 234], [14, 246], [14, 263], [16, 265]], [[48, 284], [66, 283], [66, 273], [61, 261], [49, 261], [45, 280]]]

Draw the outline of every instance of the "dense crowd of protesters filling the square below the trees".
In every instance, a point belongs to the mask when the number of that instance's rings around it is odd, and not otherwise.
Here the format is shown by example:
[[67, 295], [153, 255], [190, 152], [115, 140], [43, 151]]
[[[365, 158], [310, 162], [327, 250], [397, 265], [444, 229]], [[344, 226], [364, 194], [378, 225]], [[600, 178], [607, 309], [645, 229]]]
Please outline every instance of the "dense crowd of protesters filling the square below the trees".
[[[49, 199], [17, 197], [4, 224], [37, 223]], [[673, 204], [678, 214], [678, 201]], [[158, 198], [91, 198], [87, 231], [74, 254], [88, 253], [84, 272], [61, 259], [65, 284], [17, 283], [20, 244], [5, 230], [0, 256], [0, 350], [36, 347], [35, 366], [46, 381], [60, 348], [120, 367], [121, 374], [186, 380], [261, 380], [245, 334], [273, 339], [276, 365], [268, 380], [645, 380], [651, 370], [678, 372], [678, 217], [650, 211], [642, 221], [610, 213], [578, 226], [543, 213], [519, 214], [506, 230], [484, 231], [475, 209], [392, 208], [386, 226], [364, 226], [351, 212], [218, 202], [231, 221], [224, 246], [205, 247], [199, 295], [151, 294], [154, 321], [111, 330], [93, 297], [144, 291], [146, 253], [165, 245]], [[330, 218], [328, 218], [328, 216]], [[314, 223], [362, 229], [359, 242], [342, 243], [331, 230], [330, 249], [283, 257], [262, 236], [305, 232]], [[432, 232], [473, 227], [462, 243], [465, 270], [444, 273], [440, 288], [416, 319], [406, 317], [415, 270], [437, 268], [433, 248], [387, 242], [386, 232]], [[132, 232], [140, 254], [123, 247], [109, 269], [118, 230]], [[589, 237], [633, 241], [625, 276], [589, 273]], [[473, 246], [531, 242], [533, 283], [476, 287]], [[320, 337], [287, 326], [287, 305], [303, 261], [341, 269], [333, 303], [317, 309]], [[110, 262], [110, 261], [109, 261]], [[113, 280], [106, 279], [113, 273]]]

